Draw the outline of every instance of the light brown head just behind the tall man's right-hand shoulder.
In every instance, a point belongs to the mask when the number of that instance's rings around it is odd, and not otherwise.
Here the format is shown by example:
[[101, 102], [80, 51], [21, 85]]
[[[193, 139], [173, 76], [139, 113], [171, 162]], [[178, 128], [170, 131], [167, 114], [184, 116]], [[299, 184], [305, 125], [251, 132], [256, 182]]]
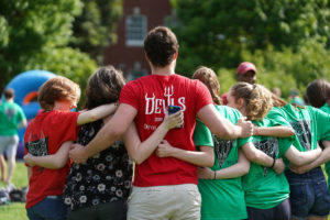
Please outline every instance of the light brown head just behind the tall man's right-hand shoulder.
[[194, 73], [193, 79], [198, 79], [201, 82], [204, 82], [208, 87], [212, 96], [213, 102], [217, 105], [222, 105], [222, 100], [218, 94], [220, 91], [220, 84], [216, 73], [212, 69], [205, 66], [199, 67]]

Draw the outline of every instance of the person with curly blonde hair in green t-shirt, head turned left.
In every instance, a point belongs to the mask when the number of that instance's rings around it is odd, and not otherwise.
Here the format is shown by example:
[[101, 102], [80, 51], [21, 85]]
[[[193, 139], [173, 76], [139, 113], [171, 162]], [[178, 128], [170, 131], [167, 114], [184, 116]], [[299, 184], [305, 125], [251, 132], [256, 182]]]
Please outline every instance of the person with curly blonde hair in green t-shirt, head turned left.
[[[266, 117], [273, 109], [273, 96], [261, 85], [238, 82], [229, 91], [228, 106], [240, 110], [257, 127], [282, 125], [276, 118], [271, 120]], [[285, 167], [282, 157], [293, 164], [304, 165], [316, 160], [321, 151], [298, 152], [292, 146], [292, 138], [254, 134], [252, 142], [253, 147], [242, 146], [245, 156], [252, 162], [249, 174], [243, 176], [249, 219], [289, 220], [289, 185], [282, 173]], [[273, 169], [278, 163], [283, 166], [280, 172]]]

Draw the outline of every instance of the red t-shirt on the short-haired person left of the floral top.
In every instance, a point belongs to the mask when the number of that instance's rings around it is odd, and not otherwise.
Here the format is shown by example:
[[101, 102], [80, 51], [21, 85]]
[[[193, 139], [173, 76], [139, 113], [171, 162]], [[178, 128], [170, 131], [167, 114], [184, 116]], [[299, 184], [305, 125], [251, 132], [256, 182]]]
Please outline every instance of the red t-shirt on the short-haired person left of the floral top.
[[[55, 110], [40, 112], [26, 128], [25, 154], [28, 151], [36, 156], [55, 154], [64, 142], [75, 141], [78, 134], [78, 112]], [[36, 205], [46, 196], [62, 195], [69, 166], [70, 162], [61, 169], [32, 167], [25, 208]]]

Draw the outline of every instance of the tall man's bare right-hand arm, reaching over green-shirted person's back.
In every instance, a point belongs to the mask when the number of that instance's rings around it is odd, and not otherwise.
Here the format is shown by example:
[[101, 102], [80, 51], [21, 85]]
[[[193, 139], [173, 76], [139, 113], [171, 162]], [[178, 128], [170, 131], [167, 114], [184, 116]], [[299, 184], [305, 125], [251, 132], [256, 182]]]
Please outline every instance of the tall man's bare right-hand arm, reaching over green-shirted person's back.
[[238, 125], [232, 124], [222, 117], [213, 105], [201, 108], [197, 117], [205, 123], [212, 133], [221, 139], [232, 140], [238, 138], [248, 138], [253, 134], [253, 125], [248, 121], [240, 121]]

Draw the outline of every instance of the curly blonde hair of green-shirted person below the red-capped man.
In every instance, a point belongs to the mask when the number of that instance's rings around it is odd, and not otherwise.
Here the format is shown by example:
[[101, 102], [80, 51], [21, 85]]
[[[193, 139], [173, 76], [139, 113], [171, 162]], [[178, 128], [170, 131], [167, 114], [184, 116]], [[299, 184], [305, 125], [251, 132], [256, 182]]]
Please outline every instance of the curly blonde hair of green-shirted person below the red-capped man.
[[262, 120], [273, 108], [272, 92], [258, 84], [238, 82], [230, 89], [235, 100], [242, 98], [249, 120]]

